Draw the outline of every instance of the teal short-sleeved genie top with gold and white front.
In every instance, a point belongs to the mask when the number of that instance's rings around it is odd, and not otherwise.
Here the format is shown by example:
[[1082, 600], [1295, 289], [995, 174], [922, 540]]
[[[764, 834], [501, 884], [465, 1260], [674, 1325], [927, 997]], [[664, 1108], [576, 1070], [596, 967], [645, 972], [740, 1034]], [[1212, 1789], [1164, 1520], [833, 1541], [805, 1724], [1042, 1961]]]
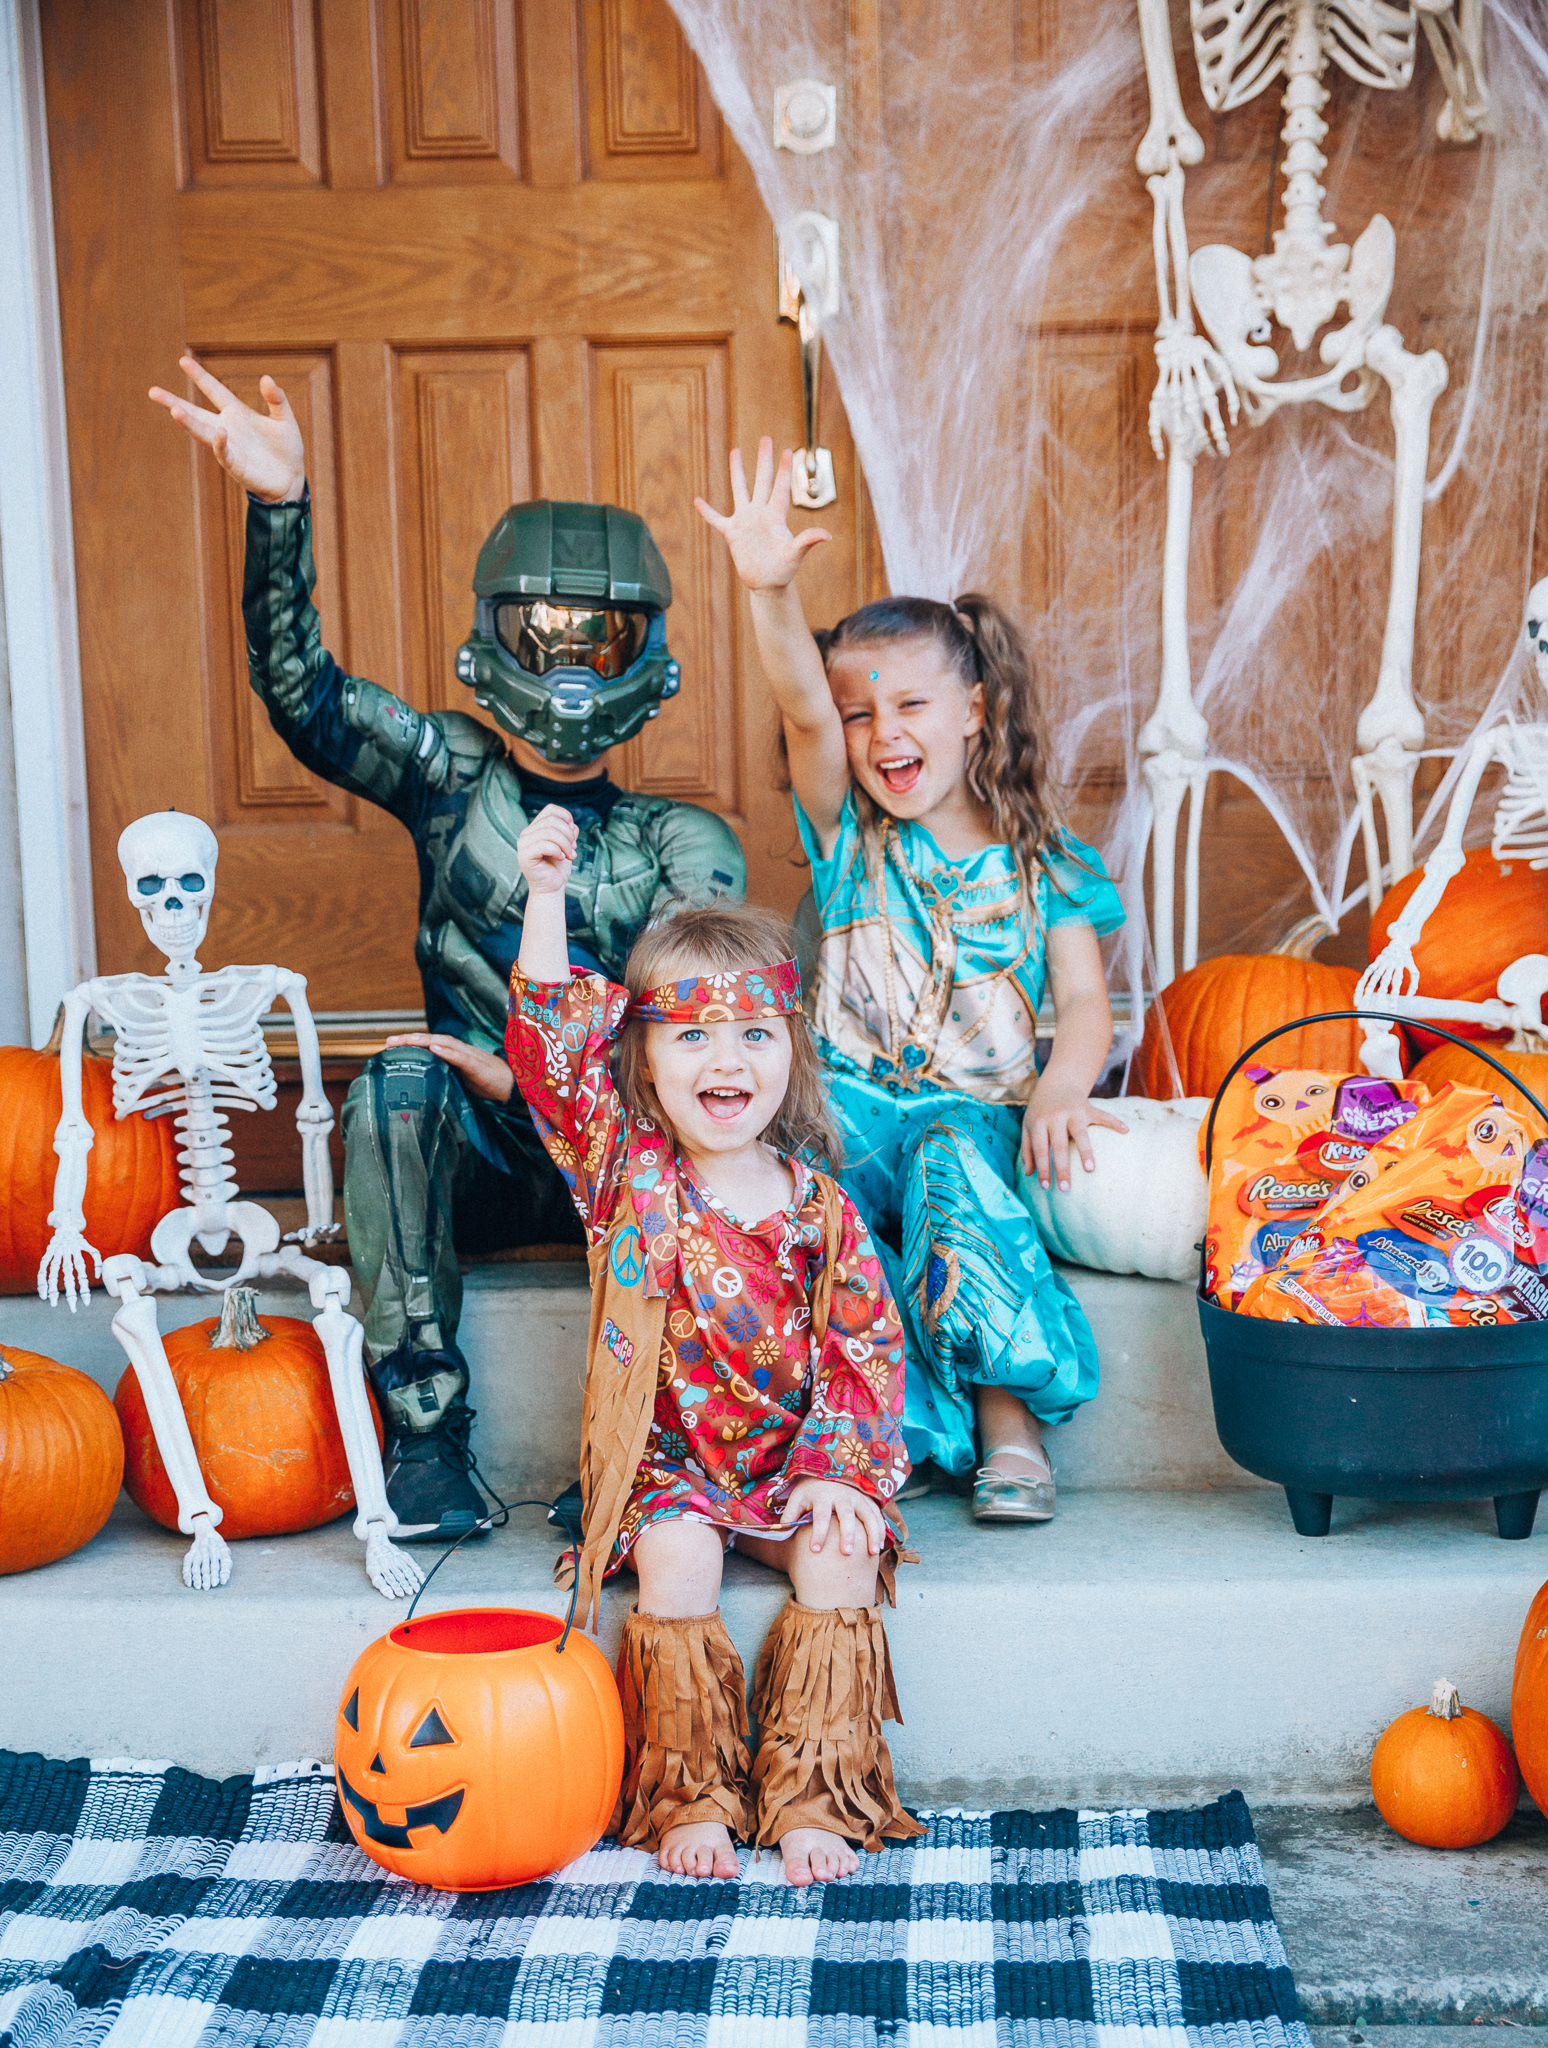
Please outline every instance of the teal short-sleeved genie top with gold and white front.
[[[815, 1028], [829, 1065], [905, 1087], [1026, 1102], [1036, 1081], [1044, 934], [1116, 932], [1124, 905], [1102, 856], [1065, 831], [1036, 879], [1028, 920], [1009, 846], [948, 860], [913, 819], [880, 819], [866, 860], [854, 791], [833, 852], [794, 807], [823, 926]], [[880, 868], [880, 872], [876, 872]]]

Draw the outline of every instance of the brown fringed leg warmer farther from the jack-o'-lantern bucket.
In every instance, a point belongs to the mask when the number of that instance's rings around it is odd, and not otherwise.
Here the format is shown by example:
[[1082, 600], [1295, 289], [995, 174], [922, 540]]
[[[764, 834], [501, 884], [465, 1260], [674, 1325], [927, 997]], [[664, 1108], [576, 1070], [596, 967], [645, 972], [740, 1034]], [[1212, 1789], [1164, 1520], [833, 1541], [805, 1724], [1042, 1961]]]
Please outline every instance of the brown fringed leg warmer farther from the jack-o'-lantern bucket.
[[893, 1786], [883, 1720], [903, 1720], [880, 1606], [780, 1614], [754, 1679], [760, 1731], [751, 1772], [760, 1847], [794, 1827], [823, 1827], [864, 1849], [923, 1829]]

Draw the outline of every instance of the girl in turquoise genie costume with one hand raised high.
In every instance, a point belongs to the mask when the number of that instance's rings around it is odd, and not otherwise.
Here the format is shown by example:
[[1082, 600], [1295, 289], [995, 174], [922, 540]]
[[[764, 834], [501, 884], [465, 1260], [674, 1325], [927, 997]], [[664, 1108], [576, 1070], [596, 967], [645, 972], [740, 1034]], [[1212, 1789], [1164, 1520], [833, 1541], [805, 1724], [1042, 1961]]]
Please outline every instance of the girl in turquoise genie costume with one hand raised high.
[[[794, 578], [790, 455], [731, 455], [725, 535], [784, 721], [821, 915], [817, 1042], [844, 1188], [895, 1262], [907, 1315], [903, 1436], [948, 1473], [983, 1446], [973, 1511], [1046, 1522], [1042, 1427], [1098, 1386], [1091, 1329], [1016, 1194], [1018, 1153], [1069, 1188], [1112, 1044], [1098, 938], [1124, 922], [1100, 856], [1065, 829], [1012, 621], [981, 596], [883, 598], [813, 637]], [[1036, 1014], [1057, 1032], [1038, 1075]], [[901, 1264], [899, 1264], [901, 1260]]]

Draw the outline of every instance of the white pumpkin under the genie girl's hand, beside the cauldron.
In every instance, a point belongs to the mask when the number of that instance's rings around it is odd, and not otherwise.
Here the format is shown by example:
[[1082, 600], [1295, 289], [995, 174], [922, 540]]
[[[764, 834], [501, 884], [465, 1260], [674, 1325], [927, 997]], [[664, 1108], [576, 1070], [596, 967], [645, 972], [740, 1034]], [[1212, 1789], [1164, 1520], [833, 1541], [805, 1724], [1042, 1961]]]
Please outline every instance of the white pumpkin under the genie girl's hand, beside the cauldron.
[[1210, 1098], [1149, 1102], [1124, 1096], [1104, 1108], [1122, 1116], [1128, 1130], [1091, 1126], [1095, 1174], [1071, 1157], [1069, 1194], [1057, 1184], [1044, 1194], [1018, 1167], [1018, 1192], [1042, 1231], [1048, 1257], [1102, 1274], [1198, 1280], [1196, 1247], [1208, 1212], [1198, 1126], [1210, 1112]]

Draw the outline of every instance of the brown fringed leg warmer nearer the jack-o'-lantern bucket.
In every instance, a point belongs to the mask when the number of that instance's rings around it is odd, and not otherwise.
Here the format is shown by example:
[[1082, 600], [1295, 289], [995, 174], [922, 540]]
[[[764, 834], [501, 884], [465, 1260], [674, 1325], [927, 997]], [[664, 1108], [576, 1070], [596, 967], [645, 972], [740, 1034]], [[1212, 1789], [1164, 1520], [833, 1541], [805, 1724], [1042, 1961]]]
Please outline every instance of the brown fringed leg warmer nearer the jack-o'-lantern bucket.
[[618, 1653], [618, 1843], [657, 1849], [668, 1829], [702, 1821], [721, 1821], [747, 1841], [747, 1688], [719, 1610], [678, 1622], [633, 1612]]

